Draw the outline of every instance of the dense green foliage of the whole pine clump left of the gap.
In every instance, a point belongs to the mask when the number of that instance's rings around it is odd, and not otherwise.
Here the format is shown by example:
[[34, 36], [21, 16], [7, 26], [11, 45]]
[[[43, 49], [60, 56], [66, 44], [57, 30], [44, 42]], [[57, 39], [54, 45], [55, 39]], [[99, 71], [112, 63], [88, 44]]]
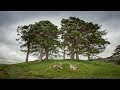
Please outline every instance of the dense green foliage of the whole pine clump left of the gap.
[[59, 46], [58, 35], [59, 31], [56, 25], [50, 21], [39, 21], [35, 24], [25, 25], [17, 28], [21, 48], [27, 47], [27, 50], [21, 50], [27, 52], [26, 61], [28, 61], [29, 53], [38, 55], [39, 53], [48, 59], [48, 55], [57, 52]]

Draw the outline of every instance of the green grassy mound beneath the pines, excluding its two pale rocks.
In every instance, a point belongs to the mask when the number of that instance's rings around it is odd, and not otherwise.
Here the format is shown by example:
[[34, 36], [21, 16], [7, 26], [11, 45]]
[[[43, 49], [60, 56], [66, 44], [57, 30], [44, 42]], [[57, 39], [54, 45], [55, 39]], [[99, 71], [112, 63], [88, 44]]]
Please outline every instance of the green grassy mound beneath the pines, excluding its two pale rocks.
[[[52, 68], [60, 63], [63, 69]], [[71, 70], [69, 63], [77, 69]], [[0, 70], [0, 79], [120, 79], [119, 65], [100, 61], [31, 61], [0, 66]]]

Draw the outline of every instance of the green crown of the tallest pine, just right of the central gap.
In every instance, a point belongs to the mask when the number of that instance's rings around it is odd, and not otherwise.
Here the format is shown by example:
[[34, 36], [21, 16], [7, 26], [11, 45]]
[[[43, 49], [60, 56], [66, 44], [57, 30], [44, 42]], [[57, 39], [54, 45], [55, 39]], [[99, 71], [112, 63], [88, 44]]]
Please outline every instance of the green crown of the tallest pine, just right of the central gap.
[[70, 51], [71, 58], [74, 59], [74, 54], [81, 53], [82, 48], [82, 34], [80, 30], [83, 30], [85, 22], [76, 17], [69, 17], [68, 19], [62, 19], [61, 21], [61, 32], [62, 39], [65, 44], [64, 47], [67, 47]]

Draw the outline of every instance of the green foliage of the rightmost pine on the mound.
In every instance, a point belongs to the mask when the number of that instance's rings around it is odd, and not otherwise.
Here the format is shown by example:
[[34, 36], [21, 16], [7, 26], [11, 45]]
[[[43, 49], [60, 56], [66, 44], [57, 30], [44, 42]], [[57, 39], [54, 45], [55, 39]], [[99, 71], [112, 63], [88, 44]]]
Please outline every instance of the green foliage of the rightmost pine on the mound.
[[[90, 25], [90, 26], [89, 26]], [[103, 52], [106, 48], [106, 45], [110, 44], [106, 39], [103, 38], [107, 33], [105, 30], [100, 31], [100, 26], [93, 23], [88, 23], [88, 30], [85, 35], [85, 48], [83, 55], [94, 56]], [[90, 58], [88, 58], [90, 59]]]

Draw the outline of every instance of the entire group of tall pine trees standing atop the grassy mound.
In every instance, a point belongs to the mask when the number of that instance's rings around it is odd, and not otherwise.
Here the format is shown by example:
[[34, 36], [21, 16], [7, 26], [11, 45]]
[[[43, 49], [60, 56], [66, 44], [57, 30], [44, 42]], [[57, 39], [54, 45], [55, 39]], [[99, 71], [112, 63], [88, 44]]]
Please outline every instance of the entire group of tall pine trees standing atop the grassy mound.
[[18, 26], [17, 41], [20, 47], [27, 52], [26, 62], [30, 53], [39, 56], [39, 60], [49, 59], [50, 56], [63, 53], [63, 59], [69, 55], [72, 60], [79, 60], [79, 55], [84, 55], [91, 60], [92, 56], [103, 52], [106, 45], [110, 44], [103, 38], [107, 34], [101, 26], [92, 22], [85, 22], [76, 17], [61, 20], [61, 28], [48, 20], [34, 24]]

